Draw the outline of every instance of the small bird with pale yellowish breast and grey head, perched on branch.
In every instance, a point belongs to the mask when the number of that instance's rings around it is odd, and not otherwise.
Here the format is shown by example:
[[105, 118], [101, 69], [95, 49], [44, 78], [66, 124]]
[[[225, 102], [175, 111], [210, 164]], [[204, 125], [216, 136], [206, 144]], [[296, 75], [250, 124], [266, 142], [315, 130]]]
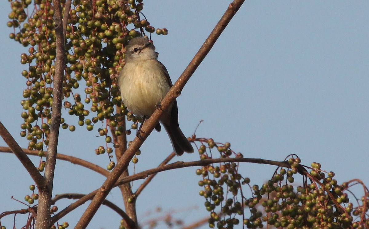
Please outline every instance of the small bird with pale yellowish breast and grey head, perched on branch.
[[[160, 102], [173, 86], [168, 71], [157, 59], [158, 53], [155, 52], [153, 43], [144, 37], [133, 38], [126, 47], [125, 65], [118, 78], [120, 95], [125, 107], [143, 120], [160, 107]], [[179, 128], [176, 100], [163, 113], [160, 121], [178, 156], [183, 152], [193, 152], [192, 145]], [[155, 129], [161, 130], [159, 123]]]

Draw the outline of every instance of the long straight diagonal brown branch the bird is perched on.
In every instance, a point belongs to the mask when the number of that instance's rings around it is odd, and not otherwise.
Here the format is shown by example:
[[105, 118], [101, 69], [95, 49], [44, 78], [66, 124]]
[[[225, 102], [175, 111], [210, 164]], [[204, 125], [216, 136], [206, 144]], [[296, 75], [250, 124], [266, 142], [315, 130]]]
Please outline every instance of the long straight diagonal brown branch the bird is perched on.
[[210, 52], [213, 47], [215, 41], [218, 39], [220, 34], [223, 32], [225, 27], [227, 27], [228, 23], [231, 21], [232, 17], [238, 11], [239, 7], [241, 7], [244, 0], [234, 0], [225, 11], [224, 15], [221, 17], [220, 21], [213, 31], [211, 31], [208, 38], [205, 40], [204, 44], [200, 47], [200, 50], [193, 57], [192, 61], [183, 71], [182, 75], [179, 77], [177, 82], [173, 85], [173, 87], [169, 90], [168, 94], [165, 96], [163, 101], [161, 102], [162, 109], [156, 109], [152, 116], [148, 119], [148, 121], [142, 126], [142, 134], [141, 139], [135, 138], [131, 144], [131, 146], [124, 152], [123, 156], [118, 161], [117, 165], [110, 173], [110, 176], [103, 183], [93, 200], [91, 201], [89, 207], [87, 207], [86, 211], [83, 213], [82, 217], [77, 222], [75, 228], [86, 228], [92, 217], [96, 213], [97, 209], [99, 209], [103, 200], [107, 197], [110, 190], [113, 188], [114, 184], [117, 182], [120, 175], [127, 169], [131, 159], [141, 147], [144, 140], [148, 137], [151, 131], [158, 123], [163, 110], [169, 108], [169, 106], [173, 103], [175, 98], [179, 96], [180, 91], [183, 89], [186, 82], [190, 79], [191, 75], [194, 73], [197, 67], [199, 67], [201, 61], [205, 58], [208, 52]]

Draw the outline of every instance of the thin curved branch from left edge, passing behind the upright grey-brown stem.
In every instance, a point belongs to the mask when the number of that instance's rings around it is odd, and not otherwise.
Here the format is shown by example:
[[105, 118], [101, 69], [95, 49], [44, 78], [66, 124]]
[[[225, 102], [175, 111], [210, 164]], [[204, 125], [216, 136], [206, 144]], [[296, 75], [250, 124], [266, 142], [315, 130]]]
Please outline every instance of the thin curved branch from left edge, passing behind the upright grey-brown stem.
[[[22, 148], [22, 150], [25, 154], [32, 155], [32, 156], [38, 156], [38, 152], [39, 152], [39, 151], [36, 151], [36, 150], [29, 150], [29, 149], [24, 149], [24, 148]], [[9, 147], [0, 146], [0, 152], [11, 153], [12, 151], [10, 150]], [[69, 155], [58, 153], [58, 154], [56, 154], [56, 159], [63, 160], [63, 161], [69, 161], [72, 164], [83, 166], [87, 169], [91, 169], [91, 170], [93, 170], [97, 173], [100, 173], [101, 175], [106, 176], [106, 177], [110, 173], [106, 169], [103, 169], [100, 166], [95, 165], [94, 163], [85, 161], [85, 160], [80, 159], [80, 158], [76, 158], [74, 156], [69, 156]]]

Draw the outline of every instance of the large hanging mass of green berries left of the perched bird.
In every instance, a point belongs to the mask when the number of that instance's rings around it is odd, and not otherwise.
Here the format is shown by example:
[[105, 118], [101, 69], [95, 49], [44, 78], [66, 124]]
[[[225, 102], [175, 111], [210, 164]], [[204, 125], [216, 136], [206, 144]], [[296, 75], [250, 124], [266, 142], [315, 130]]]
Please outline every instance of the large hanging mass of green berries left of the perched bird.
[[[14, 28], [10, 38], [31, 46], [28, 53], [21, 54], [21, 63], [27, 65], [21, 73], [27, 88], [21, 101], [25, 111], [21, 113], [24, 122], [20, 135], [29, 141], [28, 149], [44, 151], [49, 142], [55, 74], [54, 9], [51, 0], [34, 0], [33, 4], [31, 0], [9, 1], [12, 11], [7, 25]], [[65, 2], [61, 1], [63, 11]], [[119, 125], [128, 113], [121, 104], [116, 81], [124, 65], [124, 46], [145, 31], [168, 34], [166, 29], [152, 27], [146, 18], [141, 20], [143, 7], [142, 0], [73, 0], [68, 9], [63, 108], [88, 131], [101, 123], [97, 131], [106, 144], [95, 152], [107, 152], [109, 158], [113, 148], [119, 147], [112, 136], [131, 133]], [[137, 121], [130, 113], [128, 119]], [[66, 120], [72, 119], [61, 118], [61, 127], [75, 131], [76, 127]], [[136, 128], [137, 124], [132, 124], [132, 129]], [[114, 163], [109, 162], [108, 169], [113, 167]]]

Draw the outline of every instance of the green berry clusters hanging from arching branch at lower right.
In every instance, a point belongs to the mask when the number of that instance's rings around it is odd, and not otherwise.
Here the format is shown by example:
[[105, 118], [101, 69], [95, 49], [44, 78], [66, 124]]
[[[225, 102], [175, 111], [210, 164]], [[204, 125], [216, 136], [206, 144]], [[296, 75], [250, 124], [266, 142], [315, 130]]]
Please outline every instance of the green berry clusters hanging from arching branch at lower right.
[[[231, 150], [229, 143], [215, 143], [211, 138], [196, 141], [201, 144], [201, 160], [214, 158], [212, 149], [217, 149], [220, 158], [243, 158]], [[202, 177], [199, 194], [210, 212], [209, 227], [234, 228], [241, 222], [247, 228], [369, 227], [369, 191], [361, 181], [339, 185], [334, 172], [324, 172], [319, 163], [314, 162], [311, 167], [300, 163], [300, 158], [290, 155], [288, 161], [280, 162], [285, 168], [276, 171], [262, 186], [251, 186], [250, 179], [239, 173], [239, 163], [224, 162], [197, 169], [196, 174]], [[299, 174], [302, 186], [294, 184], [294, 177]], [[361, 200], [354, 196], [356, 207], [348, 198], [348, 188], [355, 184], [361, 184], [365, 190]]]

